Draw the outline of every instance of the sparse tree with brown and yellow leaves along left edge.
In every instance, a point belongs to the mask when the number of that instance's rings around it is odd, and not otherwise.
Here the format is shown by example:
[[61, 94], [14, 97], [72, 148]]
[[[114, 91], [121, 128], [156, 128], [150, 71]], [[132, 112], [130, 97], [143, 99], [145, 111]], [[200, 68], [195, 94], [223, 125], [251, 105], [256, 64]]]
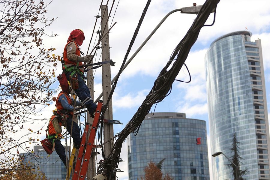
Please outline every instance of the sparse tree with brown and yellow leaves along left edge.
[[56, 36], [44, 31], [54, 21], [45, 16], [47, 6], [43, 0], [0, 0], [1, 174], [20, 169], [15, 161], [18, 148], [31, 151], [28, 144], [35, 142], [34, 134], [41, 131], [28, 128], [22, 134], [27, 128], [23, 124], [39, 119], [38, 111], [49, 105], [56, 90], [50, 85], [55, 81], [53, 68], [60, 56], [52, 53], [55, 49], [51, 46], [45, 49], [42, 45], [44, 35]]

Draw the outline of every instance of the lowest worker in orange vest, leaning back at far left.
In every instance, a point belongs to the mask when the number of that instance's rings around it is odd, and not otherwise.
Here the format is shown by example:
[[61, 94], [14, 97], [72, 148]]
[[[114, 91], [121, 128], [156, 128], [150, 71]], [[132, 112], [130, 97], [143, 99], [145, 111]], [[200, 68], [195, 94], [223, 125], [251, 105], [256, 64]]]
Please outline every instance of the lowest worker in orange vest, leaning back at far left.
[[47, 128], [48, 134], [46, 134], [46, 138], [49, 139], [49, 141], [54, 145], [55, 151], [58, 154], [59, 158], [62, 160], [64, 163], [65, 167], [67, 168], [67, 157], [65, 154], [65, 148], [61, 144], [61, 133], [62, 133], [62, 123], [61, 123], [61, 117], [57, 117], [57, 111], [53, 111], [53, 115], [50, 118], [49, 125]]

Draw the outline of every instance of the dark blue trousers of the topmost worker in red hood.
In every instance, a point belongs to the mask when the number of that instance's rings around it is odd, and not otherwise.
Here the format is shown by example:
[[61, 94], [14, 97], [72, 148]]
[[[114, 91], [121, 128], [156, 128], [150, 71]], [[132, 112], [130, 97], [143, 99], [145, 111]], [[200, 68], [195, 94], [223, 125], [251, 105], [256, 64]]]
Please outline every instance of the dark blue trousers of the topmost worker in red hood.
[[[70, 81], [70, 74], [72, 72], [65, 72], [67, 76], [67, 80]], [[97, 109], [97, 105], [94, 103], [93, 99], [91, 98], [90, 95], [90, 90], [87, 87], [87, 85], [84, 83], [82, 75], [79, 73], [75, 73], [78, 75], [78, 82], [79, 82], [79, 88], [74, 90], [79, 97], [80, 101], [82, 104], [84, 104], [89, 111], [89, 113], [95, 113]]]

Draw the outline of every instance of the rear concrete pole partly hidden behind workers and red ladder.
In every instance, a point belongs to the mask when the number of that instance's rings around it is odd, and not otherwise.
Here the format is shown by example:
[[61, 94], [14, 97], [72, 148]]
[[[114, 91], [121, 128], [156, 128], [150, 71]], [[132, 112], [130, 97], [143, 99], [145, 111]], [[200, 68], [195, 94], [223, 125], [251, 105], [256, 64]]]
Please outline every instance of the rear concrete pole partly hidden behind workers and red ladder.
[[[93, 66], [89, 66], [88, 69], [90, 69]], [[90, 94], [91, 97], [94, 99], [94, 78], [93, 78], [93, 70], [88, 70], [87, 71], [87, 86], [90, 89]], [[89, 112], [87, 111], [87, 122], [90, 124], [90, 130], [91, 130], [91, 126], [93, 124], [93, 118], [91, 118], [91, 116], [89, 115]], [[86, 142], [88, 142], [89, 139], [89, 135], [90, 133], [88, 133], [87, 138], [86, 138]], [[95, 142], [94, 142], [95, 143]], [[87, 172], [87, 179], [92, 180], [92, 178], [94, 176], [96, 176], [96, 157], [95, 155], [92, 155], [90, 157], [90, 161], [88, 164], [88, 172]]]

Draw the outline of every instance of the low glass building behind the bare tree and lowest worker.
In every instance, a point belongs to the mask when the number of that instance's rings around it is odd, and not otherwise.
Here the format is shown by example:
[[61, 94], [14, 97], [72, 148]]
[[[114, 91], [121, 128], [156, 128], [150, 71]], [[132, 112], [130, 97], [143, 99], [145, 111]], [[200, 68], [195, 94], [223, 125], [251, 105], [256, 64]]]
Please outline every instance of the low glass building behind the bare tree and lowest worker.
[[[67, 146], [66, 149], [69, 149], [69, 146]], [[68, 155], [68, 151], [67, 155]], [[35, 154], [34, 154], [35, 153]], [[57, 153], [54, 151], [51, 155], [48, 155], [42, 146], [34, 146], [34, 155], [38, 156], [38, 158], [32, 158], [30, 155], [23, 155], [26, 158], [24, 158], [23, 161], [28, 162], [32, 164], [39, 164], [39, 170], [45, 173], [45, 176], [47, 179], [51, 180], [65, 180], [67, 175], [67, 170], [65, 168], [65, 165], [57, 155]], [[29, 157], [29, 158], [27, 158]]]

